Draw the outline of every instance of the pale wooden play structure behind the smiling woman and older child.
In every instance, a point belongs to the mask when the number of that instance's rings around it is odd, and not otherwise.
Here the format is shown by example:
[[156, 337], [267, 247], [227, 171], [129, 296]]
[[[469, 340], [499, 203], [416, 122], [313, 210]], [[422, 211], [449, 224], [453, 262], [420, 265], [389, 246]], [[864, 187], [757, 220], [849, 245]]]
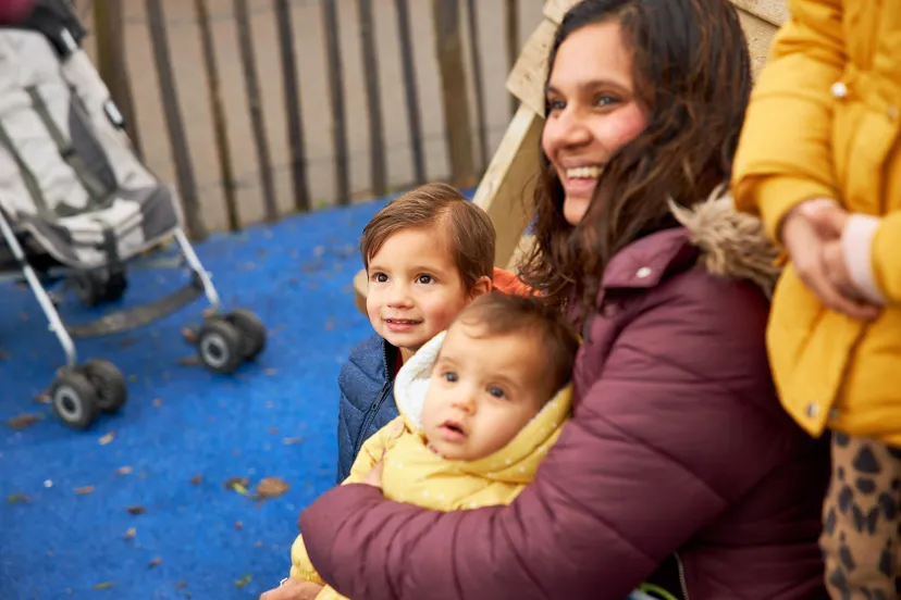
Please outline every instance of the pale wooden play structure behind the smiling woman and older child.
[[[507, 78], [507, 90], [519, 100], [519, 109], [501, 141], [497, 152], [482, 176], [473, 201], [491, 216], [497, 232], [494, 264], [514, 268], [528, 249], [524, 234], [532, 209], [539, 170], [542, 122], [544, 121], [544, 79], [547, 54], [564, 14], [579, 0], [546, 0], [544, 20], [522, 48]], [[788, 17], [786, 0], [731, 0], [739, 11], [748, 38], [754, 75], [766, 62], [776, 29]], [[367, 277], [354, 277], [357, 308], [366, 313]]]

